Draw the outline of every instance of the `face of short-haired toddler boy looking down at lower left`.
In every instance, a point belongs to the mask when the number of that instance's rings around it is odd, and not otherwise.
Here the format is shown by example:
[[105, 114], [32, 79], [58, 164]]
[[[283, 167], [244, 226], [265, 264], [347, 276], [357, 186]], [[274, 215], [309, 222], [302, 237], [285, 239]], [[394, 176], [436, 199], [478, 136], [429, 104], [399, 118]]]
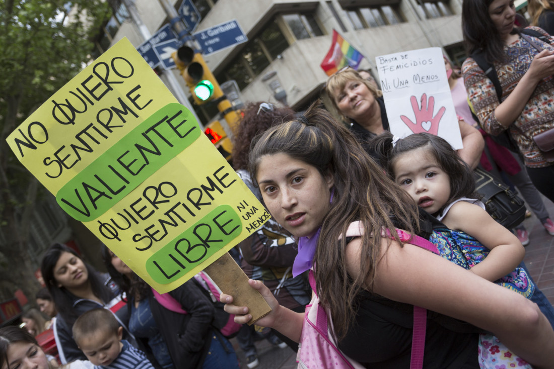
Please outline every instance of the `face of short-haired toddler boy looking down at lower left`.
[[108, 366], [121, 352], [122, 335], [121, 327], [117, 333], [99, 329], [94, 334], [81, 338], [79, 348], [93, 365]]

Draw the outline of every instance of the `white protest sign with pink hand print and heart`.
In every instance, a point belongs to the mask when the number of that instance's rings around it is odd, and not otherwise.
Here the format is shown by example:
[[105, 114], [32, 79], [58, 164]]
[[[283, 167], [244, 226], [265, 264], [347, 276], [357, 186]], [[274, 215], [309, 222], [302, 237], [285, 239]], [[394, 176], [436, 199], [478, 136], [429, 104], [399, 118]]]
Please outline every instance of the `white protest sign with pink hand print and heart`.
[[461, 149], [460, 129], [440, 48], [375, 58], [391, 132], [428, 132]]

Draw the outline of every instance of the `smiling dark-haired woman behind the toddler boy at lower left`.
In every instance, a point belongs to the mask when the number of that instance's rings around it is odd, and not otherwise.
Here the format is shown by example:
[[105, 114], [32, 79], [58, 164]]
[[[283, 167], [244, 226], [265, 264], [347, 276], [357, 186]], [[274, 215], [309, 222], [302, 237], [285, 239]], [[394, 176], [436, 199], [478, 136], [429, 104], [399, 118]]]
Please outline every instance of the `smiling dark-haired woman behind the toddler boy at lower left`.
[[61, 363], [86, 360], [73, 341], [73, 323], [85, 311], [94, 308], [110, 309], [126, 331], [126, 339], [135, 343], [126, 330], [126, 309], [121, 309], [117, 286], [106, 273], [98, 273], [72, 248], [55, 243], [42, 258], [40, 271], [44, 278], [58, 315], [54, 324], [54, 336]]

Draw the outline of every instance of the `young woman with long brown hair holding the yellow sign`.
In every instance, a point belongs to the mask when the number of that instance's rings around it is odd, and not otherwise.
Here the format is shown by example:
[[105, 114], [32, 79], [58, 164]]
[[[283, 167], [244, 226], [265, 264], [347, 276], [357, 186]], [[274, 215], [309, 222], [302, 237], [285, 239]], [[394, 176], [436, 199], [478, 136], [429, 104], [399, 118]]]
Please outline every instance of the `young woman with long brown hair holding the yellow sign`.
[[[299, 238], [299, 254], [307, 251], [302, 259], [314, 252], [307, 268], [314, 268], [338, 347], [353, 360], [408, 368], [411, 309], [418, 305], [492, 331], [536, 367], [554, 368], [554, 331], [535, 304], [401, 242], [395, 232], [394, 240], [381, 237], [383, 228], [418, 230], [413, 201], [326, 111], [312, 106], [266, 131], [253, 146], [249, 170], [271, 215]], [[365, 231], [346, 240], [355, 221]], [[299, 341], [304, 314], [280, 306], [263, 283], [249, 284], [273, 309], [256, 324]], [[230, 295], [221, 298], [238, 323], [252, 318]], [[427, 320], [424, 367], [479, 368], [478, 335], [449, 330], [434, 315]]]

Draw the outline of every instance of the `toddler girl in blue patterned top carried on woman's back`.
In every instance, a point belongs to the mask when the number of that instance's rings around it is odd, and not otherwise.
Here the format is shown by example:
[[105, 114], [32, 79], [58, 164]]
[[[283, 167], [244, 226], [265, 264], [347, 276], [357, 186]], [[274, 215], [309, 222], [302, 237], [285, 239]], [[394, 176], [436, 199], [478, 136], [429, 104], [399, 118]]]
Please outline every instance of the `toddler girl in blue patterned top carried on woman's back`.
[[[428, 133], [400, 139], [387, 132], [372, 142], [392, 179], [446, 226], [430, 237], [442, 257], [532, 297], [534, 283], [523, 268], [516, 268], [525, 254], [521, 242], [476, 199], [473, 174], [447, 141]], [[493, 335], [480, 335], [479, 343], [481, 368], [519, 364]], [[487, 352], [492, 345], [497, 347]]]

